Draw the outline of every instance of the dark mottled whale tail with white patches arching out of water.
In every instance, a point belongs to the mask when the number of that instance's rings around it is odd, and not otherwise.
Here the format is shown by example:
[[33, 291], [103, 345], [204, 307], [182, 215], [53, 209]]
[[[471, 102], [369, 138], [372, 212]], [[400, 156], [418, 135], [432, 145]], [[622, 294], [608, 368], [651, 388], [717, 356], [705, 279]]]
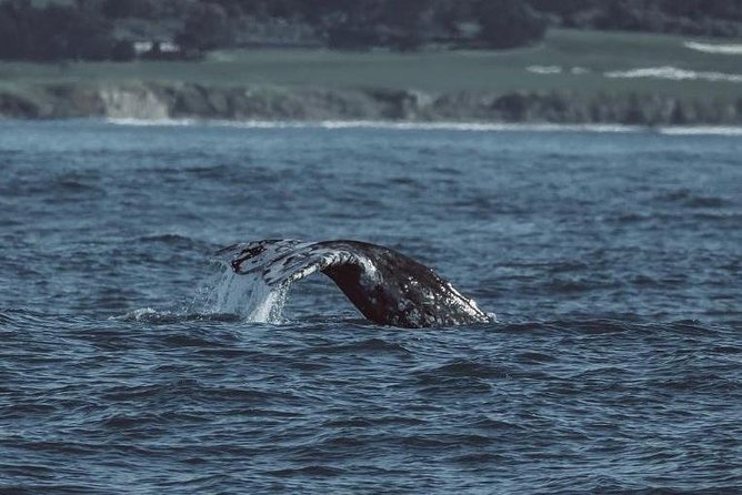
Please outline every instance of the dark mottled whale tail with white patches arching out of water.
[[422, 329], [494, 321], [430, 267], [378, 244], [269, 239], [232, 244], [215, 254], [234, 273], [257, 276], [274, 289], [323, 273], [379, 325]]

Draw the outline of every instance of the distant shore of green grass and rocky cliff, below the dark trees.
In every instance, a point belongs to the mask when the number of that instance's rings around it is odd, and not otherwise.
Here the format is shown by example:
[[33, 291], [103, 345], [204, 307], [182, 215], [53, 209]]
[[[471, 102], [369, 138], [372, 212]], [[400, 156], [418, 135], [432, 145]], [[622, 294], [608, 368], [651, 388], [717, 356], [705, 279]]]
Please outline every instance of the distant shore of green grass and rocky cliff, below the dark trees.
[[538, 47], [501, 51], [231, 50], [199, 62], [3, 62], [0, 118], [742, 125], [734, 47], [550, 30]]

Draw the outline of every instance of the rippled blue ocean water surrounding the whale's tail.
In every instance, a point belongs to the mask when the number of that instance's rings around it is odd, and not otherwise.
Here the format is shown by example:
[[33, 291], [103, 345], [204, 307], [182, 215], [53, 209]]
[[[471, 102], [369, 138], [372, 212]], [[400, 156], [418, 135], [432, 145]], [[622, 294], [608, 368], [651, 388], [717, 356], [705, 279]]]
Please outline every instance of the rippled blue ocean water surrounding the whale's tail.
[[[270, 238], [499, 321], [255, 319], [212, 254]], [[0, 493], [453, 491], [742, 491], [739, 132], [0, 122]]]

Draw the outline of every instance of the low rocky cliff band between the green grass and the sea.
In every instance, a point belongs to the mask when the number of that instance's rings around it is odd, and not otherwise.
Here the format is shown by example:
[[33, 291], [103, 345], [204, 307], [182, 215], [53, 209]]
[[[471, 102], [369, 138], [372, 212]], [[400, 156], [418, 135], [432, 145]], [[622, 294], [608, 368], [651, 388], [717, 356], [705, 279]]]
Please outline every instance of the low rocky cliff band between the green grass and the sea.
[[742, 99], [653, 93], [209, 87], [195, 83], [44, 84], [0, 90], [0, 118], [391, 120], [550, 123], [742, 124]]

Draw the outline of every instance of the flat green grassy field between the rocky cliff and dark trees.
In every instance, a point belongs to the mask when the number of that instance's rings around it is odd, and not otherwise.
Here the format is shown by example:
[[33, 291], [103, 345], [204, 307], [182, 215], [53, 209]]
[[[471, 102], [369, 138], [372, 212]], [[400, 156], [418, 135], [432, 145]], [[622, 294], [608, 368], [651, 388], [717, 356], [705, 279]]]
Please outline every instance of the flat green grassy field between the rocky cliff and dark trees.
[[[643, 92], [679, 97], [742, 98], [742, 83], [701, 80], [608, 79], [605, 71], [672, 65], [694, 71], [741, 73], [742, 57], [710, 54], [683, 46], [689, 38], [661, 34], [552, 30], [538, 47], [509, 51], [334, 52], [325, 50], [231, 50], [201, 62], [136, 61], [38, 64], [0, 62], [0, 88], [120, 82], [194, 82], [209, 85], [420, 89], [434, 92], [561, 90]], [[540, 74], [529, 67], [560, 67]], [[580, 68], [581, 73], [572, 73]]]

